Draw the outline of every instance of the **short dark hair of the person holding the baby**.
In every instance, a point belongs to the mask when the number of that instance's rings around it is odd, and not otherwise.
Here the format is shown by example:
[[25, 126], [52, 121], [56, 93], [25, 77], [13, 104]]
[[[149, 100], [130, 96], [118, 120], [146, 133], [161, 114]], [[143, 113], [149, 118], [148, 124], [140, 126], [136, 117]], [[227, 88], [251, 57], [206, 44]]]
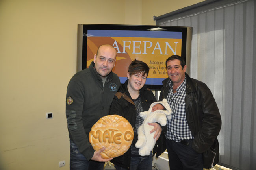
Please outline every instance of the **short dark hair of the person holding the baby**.
[[138, 74], [142, 73], [142, 76], [144, 76], [147, 73], [147, 76], [148, 76], [149, 67], [143, 61], [139, 61], [139, 60], [135, 59], [129, 65], [128, 72], [129, 72], [130, 76], [132, 76], [136, 73], [138, 73]]

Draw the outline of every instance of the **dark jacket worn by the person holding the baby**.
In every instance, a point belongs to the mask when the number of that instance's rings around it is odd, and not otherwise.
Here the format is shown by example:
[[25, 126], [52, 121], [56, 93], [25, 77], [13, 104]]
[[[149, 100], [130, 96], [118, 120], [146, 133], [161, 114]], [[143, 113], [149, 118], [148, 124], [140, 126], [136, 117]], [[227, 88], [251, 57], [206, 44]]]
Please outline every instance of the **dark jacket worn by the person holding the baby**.
[[[123, 116], [130, 122], [132, 127], [135, 128], [136, 107], [128, 92], [127, 84], [128, 84], [128, 80], [119, 88], [118, 92], [115, 94], [113, 102], [110, 107], [109, 114], [116, 114], [116, 115]], [[145, 86], [140, 89], [140, 97], [141, 97], [141, 105], [142, 105], [143, 111], [148, 111], [151, 103], [156, 102], [156, 97], [154, 96], [154, 94], [150, 91], [150, 89], [147, 89]], [[163, 133], [164, 131], [167, 130], [167, 127], [166, 126], [161, 126], [161, 127], [163, 130], [162, 130], [162, 135], [160, 135], [160, 137], [161, 136], [164, 137]], [[134, 139], [132, 141], [132, 144], [135, 145], [135, 143], [138, 140], [137, 137], [138, 137], [138, 134], [134, 133]], [[158, 141], [156, 141], [156, 146]], [[119, 157], [112, 159], [111, 162], [113, 164], [116, 164], [117, 166], [130, 169], [130, 158], [131, 158], [131, 150], [129, 149], [126, 153], [124, 153], [124, 155], [121, 155]]]

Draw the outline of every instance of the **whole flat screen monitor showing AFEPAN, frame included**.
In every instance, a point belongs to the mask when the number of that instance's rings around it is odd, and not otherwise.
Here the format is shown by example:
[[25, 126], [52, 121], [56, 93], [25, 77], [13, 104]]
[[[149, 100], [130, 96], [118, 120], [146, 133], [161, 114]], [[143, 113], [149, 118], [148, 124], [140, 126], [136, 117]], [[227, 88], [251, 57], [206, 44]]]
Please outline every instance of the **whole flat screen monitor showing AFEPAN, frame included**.
[[117, 50], [113, 72], [121, 83], [127, 80], [131, 61], [137, 59], [150, 68], [147, 87], [160, 90], [168, 77], [166, 59], [180, 55], [188, 63], [191, 39], [191, 27], [78, 24], [77, 71], [89, 67], [100, 45], [110, 44]]

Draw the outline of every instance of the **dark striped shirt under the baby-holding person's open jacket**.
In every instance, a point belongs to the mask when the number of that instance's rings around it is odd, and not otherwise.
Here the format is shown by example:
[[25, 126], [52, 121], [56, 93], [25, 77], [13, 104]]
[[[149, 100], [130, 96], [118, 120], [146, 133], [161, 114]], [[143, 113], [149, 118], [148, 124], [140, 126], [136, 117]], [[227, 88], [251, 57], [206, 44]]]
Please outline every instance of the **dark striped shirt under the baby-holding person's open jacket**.
[[[137, 99], [133, 99], [135, 107], [136, 107], [136, 123], [135, 123], [135, 128], [134, 132], [138, 132], [139, 126], [143, 124], [143, 118], [139, 116], [141, 112], [143, 112], [142, 105], [141, 105], [141, 97], [139, 96]], [[131, 145], [131, 154], [132, 155], [139, 155], [139, 149], [136, 148], [133, 144]]]

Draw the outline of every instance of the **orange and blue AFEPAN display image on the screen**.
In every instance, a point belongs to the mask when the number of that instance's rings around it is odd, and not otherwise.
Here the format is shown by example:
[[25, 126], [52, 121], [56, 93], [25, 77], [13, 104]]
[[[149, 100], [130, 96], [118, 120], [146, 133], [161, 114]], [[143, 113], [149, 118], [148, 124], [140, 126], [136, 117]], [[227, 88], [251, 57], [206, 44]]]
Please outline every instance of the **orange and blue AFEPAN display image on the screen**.
[[161, 85], [167, 78], [165, 61], [171, 55], [181, 55], [182, 33], [165, 31], [88, 30], [87, 67], [98, 46], [110, 44], [117, 50], [117, 61], [113, 72], [121, 80], [127, 79], [128, 66], [134, 59], [147, 63], [150, 68], [147, 84], [152, 79]]

